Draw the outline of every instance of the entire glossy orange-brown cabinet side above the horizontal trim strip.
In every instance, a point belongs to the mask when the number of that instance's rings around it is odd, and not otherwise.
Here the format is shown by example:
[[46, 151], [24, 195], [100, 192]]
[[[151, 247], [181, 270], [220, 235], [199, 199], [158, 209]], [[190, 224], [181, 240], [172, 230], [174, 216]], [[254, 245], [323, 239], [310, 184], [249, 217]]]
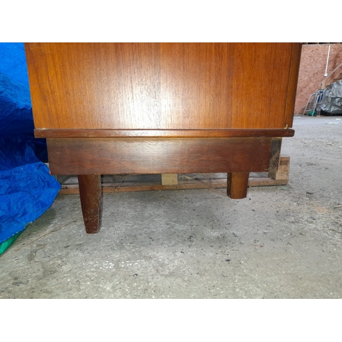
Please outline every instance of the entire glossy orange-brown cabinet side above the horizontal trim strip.
[[282, 129], [284, 122], [291, 127], [298, 47], [26, 43], [35, 127]]

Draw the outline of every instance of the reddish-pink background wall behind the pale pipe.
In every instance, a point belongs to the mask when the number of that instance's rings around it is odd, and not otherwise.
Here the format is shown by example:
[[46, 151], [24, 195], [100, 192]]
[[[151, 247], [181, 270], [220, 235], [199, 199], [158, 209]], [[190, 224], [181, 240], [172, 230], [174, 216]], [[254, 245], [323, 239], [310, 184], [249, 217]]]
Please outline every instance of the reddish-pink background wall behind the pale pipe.
[[[300, 59], [297, 95], [295, 99], [295, 114], [302, 114], [308, 97], [318, 90], [319, 83], [325, 79], [328, 44], [303, 44]], [[331, 44], [328, 64], [328, 75], [342, 63], [342, 44]], [[342, 67], [326, 80], [326, 86], [342, 73]], [[342, 75], [341, 75], [342, 77]]]

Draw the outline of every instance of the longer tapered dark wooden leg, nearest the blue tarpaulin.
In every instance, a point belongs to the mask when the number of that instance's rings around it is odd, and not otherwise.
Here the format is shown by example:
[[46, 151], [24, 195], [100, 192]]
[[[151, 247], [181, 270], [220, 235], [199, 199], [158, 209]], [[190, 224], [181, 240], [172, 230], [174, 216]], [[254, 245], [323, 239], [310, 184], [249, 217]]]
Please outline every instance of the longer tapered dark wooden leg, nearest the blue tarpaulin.
[[81, 174], [79, 179], [79, 196], [86, 233], [98, 233], [101, 226], [101, 175]]

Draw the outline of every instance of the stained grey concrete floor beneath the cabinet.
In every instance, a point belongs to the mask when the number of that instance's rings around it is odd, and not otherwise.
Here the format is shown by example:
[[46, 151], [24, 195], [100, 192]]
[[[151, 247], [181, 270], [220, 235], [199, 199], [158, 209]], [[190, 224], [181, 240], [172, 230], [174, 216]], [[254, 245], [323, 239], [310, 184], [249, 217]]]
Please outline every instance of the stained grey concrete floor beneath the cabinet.
[[[58, 196], [0, 257], [0, 298], [342, 298], [342, 120], [294, 119], [289, 185]], [[333, 124], [330, 124], [333, 122]]]

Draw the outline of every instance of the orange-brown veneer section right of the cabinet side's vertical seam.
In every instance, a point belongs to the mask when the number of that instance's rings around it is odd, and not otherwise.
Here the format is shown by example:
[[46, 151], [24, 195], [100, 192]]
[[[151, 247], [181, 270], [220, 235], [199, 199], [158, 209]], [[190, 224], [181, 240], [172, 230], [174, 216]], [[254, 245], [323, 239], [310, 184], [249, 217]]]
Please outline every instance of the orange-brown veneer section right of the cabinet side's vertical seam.
[[233, 129], [283, 128], [291, 43], [236, 43]]

